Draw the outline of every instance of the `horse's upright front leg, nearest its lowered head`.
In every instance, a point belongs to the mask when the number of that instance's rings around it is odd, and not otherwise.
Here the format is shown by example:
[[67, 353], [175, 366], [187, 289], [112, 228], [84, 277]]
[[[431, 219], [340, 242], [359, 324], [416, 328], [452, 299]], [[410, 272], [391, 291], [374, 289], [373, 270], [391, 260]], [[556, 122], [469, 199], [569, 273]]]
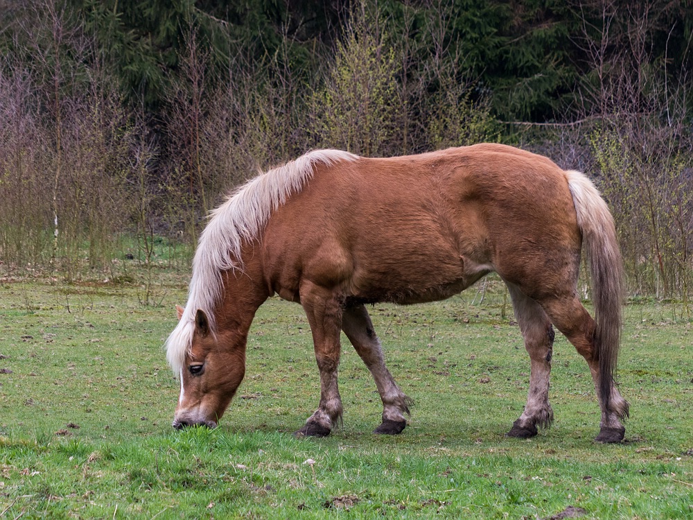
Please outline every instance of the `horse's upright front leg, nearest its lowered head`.
[[326, 437], [335, 423], [341, 421], [343, 413], [337, 384], [342, 305], [333, 293], [309, 282], [301, 286], [301, 304], [313, 333], [315, 361], [320, 371], [320, 402], [315, 413], [308, 417], [305, 426], [295, 435]]

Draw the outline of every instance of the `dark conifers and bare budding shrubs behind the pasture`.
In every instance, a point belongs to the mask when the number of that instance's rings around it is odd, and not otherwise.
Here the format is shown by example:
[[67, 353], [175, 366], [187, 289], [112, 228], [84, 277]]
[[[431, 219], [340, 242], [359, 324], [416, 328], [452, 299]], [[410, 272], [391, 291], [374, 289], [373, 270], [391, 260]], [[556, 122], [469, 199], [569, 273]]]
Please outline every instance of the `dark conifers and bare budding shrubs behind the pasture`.
[[693, 2], [0, 0], [0, 266], [188, 266], [311, 148], [498, 141], [586, 171], [631, 295], [688, 301]]

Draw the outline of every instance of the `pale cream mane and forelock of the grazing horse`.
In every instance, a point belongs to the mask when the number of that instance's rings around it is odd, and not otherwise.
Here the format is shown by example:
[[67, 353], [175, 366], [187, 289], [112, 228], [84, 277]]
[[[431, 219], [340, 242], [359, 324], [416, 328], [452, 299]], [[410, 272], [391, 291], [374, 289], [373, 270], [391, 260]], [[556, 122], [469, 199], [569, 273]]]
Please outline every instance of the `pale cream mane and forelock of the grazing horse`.
[[240, 257], [243, 243], [258, 239], [272, 211], [283, 205], [292, 193], [303, 189], [313, 176], [315, 164], [330, 166], [356, 159], [357, 155], [342, 150], [310, 151], [292, 162], [258, 175], [211, 211], [193, 258], [193, 276], [185, 311], [166, 340], [166, 358], [176, 375], [182, 370], [185, 356], [191, 348], [198, 309], [207, 314], [211, 330], [216, 330], [213, 311], [224, 289], [222, 272], [243, 270], [243, 259]]

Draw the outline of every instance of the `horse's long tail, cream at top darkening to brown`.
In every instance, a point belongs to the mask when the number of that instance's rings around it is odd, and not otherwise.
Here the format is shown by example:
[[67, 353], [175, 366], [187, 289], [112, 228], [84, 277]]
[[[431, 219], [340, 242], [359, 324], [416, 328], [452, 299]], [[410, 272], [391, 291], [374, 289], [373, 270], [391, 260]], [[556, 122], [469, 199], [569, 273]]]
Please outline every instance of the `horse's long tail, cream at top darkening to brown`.
[[599, 362], [599, 394], [605, 409], [609, 410], [622, 327], [623, 262], [613, 217], [599, 191], [580, 172], [567, 171], [566, 175], [590, 266], [596, 322], [594, 348]]

